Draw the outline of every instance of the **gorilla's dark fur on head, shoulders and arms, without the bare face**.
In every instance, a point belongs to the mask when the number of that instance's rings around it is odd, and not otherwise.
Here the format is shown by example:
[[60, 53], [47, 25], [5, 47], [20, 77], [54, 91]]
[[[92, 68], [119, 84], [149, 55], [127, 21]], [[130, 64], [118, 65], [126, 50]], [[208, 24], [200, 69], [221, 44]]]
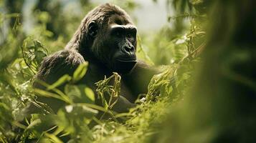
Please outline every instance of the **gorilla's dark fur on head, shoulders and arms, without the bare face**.
[[[119, 20], [115, 21], [115, 17]], [[82, 20], [79, 28], [75, 32], [65, 49], [48, 56], [42, 61], [42, 65], [37, 74], [37, 79], [52, 84], [64, 74], [70, 74], [75, 71], [77, 66], [85, 61], [89, 61], [89, 66], [85, 77], [80, 84], [87, 84], [95, 90], [95, 82], [110, 76], [113, 69], [113, 56], [111, 47], [106, 46], [108, 42], [113, 41], [111, 37], [105, 36], [108, 32], [108, 26], [111, 22], [118, 25], [133, 25], [130, 16], [123, 9], [112, 4], [103, 4], [90, 11], [85, 19]], [[90, 35], [89, 24], [95, 22], [98, 25], [97, 35]], [[131, 42], [136, 50], [136, 38]], [[128, 73], [129, 74], [125, 74]], [[121, 81], [121, 97], [115, 105], [116, 112], [126, 112], [129, 108], [134, 107], [134, 102], [138, 94], [146, 93], [147, 85], [156, 70], [151, 69], [141, 61], [137, 61], [131, 71], [119, 73]], [[141, 80], [140, 80], [141, 79]], [[43, 89], [42, 86], [35, 83], [34, 87]], [[39, 102], [47, 103], [56, 112], [63, 105], [63, 102], [57, 99], [44, 97], [38, 98]]]

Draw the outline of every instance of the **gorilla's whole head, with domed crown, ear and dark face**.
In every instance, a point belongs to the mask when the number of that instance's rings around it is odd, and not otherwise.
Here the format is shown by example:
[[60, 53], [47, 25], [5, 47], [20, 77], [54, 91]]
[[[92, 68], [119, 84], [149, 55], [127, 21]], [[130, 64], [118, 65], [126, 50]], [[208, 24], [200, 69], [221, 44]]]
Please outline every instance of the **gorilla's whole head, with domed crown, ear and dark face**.
[[123, 9], [103, 4], [85, 16], [70, 42], [86, 60], [127, 73], [136, 64], [136, 33], [136, 26]]

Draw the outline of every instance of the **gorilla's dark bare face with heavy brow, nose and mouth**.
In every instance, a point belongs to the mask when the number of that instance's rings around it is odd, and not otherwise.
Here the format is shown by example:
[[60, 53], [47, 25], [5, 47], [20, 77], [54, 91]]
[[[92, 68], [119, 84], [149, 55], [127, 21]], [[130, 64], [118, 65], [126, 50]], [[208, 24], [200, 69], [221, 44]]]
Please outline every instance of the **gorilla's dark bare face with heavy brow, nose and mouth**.
[[128, 73], [136, 64], [136, 26], [125, 16], [113, 15], [104, 27], [105, 30], [99, 31], [101, 34], [95, 37], [98, 56], [111, 71]]

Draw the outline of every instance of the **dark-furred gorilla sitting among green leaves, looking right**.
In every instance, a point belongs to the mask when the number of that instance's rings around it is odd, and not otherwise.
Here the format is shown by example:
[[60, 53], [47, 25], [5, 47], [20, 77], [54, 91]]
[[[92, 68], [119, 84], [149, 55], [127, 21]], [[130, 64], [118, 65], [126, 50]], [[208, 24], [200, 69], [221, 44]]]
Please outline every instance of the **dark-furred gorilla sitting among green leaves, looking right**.
[[[112, 4], [98, 6], [85, 16], [65, 49], [42, 61], [35, 78], [52, 84], [64, 74], [72, 75], [77, 66], [88, 61], [87, 73], [80, 82], [95, 90], [95, 82], [118, 72], [122, 78], [121, 95], [114, 110], [126, 112], [135, 105], [138, 94], [147, 92], [148, 83], [156, 74], [155, 69], [136, 59], [136, 32], [123, 9]], [[36, 82], [34, 87], [43, 88]], [[57, 99], [38, 100], [55, 112], [64, 105]]]

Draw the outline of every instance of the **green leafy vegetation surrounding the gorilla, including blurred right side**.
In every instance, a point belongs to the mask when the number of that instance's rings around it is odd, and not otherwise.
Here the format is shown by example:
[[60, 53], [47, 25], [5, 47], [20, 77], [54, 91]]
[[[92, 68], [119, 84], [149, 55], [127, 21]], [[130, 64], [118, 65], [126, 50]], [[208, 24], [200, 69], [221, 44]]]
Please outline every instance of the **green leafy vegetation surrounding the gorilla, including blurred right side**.
[[[114, 2], [128, 13], [138, 6]], [[118, 74], [96, 83], [97, 96], [74, 85], [87, 63], [52, 85], [42, 83], [46, 90], [32, 88], [42, 59], [62, 49], [97, 5], [76, 3], [82, 14], [63, 11], [60, 1], [22, 10], [25, 1], [0, 0], [0, 142], [255, 142], [255, 2], [166, 0], [175, 15], [160, 31], [139, 35], [137, 51], [162, 72], [138, 106], [122, 114], [111, 111], [120, 93]], [[24, 27], [24, 9], [32, 11], [32, 27]], [[58, 90], [63, 83], [65, 90]], [[68, 105], [53, 114], [36, 102], [37, 93]], [[42, 114], [29, 114], [30, 104]], [[99, 111], [105, 114], [97, 117]]]

